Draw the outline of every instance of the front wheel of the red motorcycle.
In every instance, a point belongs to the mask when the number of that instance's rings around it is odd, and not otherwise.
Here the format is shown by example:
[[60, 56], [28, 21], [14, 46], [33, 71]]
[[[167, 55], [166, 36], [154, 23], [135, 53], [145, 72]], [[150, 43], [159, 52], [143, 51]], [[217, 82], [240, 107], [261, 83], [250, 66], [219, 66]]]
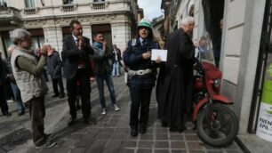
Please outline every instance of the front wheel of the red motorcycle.
[[230, 145], [236, 138], [238, 129], [236, 114], [226, 105], [206, 106], [196, 117], [199, 139], [214, 147]]

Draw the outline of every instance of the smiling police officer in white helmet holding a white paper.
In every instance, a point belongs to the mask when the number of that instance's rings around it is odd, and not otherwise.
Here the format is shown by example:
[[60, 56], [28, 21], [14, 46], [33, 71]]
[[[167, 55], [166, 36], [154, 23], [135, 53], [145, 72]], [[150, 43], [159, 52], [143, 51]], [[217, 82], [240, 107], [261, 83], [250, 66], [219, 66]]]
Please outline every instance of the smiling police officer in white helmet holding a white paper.
[[124, 64], [129, 68], [127, 85], [132, 100], [132, 137], [138, 135], [138, 130], [139, 133], [147, 131], [150, 97], [156, 82], [156, 68], [161, 61], [160, 58], [156, 61], [151, 60], [151, 50], [159, 49], [159, 44], [154, 41], [151, 22], [140, 20], [137, 30], [136, 38], [129, 41], [123, 57]]

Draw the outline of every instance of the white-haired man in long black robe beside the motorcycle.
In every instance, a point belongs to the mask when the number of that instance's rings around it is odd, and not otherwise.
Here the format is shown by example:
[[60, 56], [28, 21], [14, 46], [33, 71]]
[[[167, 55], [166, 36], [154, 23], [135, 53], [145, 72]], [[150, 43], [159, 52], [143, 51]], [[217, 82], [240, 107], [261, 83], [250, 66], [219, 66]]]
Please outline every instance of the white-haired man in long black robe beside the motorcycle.
[[184, 116], [193, 99], [195, 45], [190, 35], [194, 26], [193, 17], [184, 18], [180, 28], [167, 36], [167, 61], [162, 63], [157, 79], [158, 118], [173, 132], [186, 128]]

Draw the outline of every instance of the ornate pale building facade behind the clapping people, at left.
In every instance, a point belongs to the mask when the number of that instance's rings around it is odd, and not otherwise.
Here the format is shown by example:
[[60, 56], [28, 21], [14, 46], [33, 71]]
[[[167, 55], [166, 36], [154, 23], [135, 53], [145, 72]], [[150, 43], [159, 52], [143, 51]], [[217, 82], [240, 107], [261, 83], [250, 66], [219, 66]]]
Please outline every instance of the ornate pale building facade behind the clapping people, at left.
[[84, 36], [103, 32], [109, 46], [124, 50], [138, 18], [137, 0], [4, 0], [0, 9], [0, 50], [11, 44], [9, 31], [25, 28], [32, 34], [33, 48], [51, 44], [62, 50], [62, 38], [69, 35], [68, 23], [81, 21]]

